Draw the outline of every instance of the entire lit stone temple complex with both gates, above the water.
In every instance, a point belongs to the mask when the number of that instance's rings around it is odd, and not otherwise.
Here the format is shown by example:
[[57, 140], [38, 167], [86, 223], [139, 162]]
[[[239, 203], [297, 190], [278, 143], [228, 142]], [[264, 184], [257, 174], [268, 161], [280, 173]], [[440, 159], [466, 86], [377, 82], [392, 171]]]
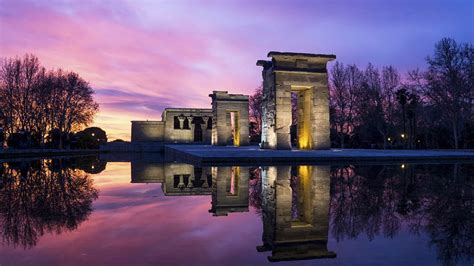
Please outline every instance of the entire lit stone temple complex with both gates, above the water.
[[[263, 149], [291, 149], [297, 119], [298, 149], [329, 149], [327, 63], [335, 55], [269, 52], [263, 67]], [[249, 145], [249, 96], [213, 91], [211, 109], [166, 108], [161, 121], [132, 121], [132, 143]], [[292, 98], [296, 112], [292, 112]]]

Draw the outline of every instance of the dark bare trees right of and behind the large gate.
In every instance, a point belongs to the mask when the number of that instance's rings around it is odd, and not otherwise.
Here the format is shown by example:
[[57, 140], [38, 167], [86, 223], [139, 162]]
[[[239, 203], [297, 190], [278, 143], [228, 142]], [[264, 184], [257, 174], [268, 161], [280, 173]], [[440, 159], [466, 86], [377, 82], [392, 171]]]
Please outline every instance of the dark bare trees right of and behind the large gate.
[[[393, 66], [336, 62], [329, 71], [332, 146], [474, 148], [473, 45], [442, 39], [426, 62], [426, 70], [406, 75]], [[261, 88], [250, 97], [253, 141], [261, 97]]]

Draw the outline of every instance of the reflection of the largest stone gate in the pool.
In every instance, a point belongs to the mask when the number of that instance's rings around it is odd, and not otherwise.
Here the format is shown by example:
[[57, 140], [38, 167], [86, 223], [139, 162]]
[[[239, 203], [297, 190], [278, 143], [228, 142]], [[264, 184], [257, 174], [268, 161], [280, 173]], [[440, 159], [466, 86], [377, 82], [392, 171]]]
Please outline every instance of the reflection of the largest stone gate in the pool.
[[330, 167], [270, 166], [262, 170], [263, 245], [270, 261], [334, 258], [327, 250]]

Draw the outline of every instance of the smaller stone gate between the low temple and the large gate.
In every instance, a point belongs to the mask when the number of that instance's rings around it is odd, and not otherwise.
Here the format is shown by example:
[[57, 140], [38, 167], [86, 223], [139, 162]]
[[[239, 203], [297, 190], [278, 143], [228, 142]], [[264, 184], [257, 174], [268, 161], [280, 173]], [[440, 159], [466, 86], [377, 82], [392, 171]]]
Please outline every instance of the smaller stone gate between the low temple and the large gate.
[[213, 91], [212, 145], [249, 145], [249, 96]]

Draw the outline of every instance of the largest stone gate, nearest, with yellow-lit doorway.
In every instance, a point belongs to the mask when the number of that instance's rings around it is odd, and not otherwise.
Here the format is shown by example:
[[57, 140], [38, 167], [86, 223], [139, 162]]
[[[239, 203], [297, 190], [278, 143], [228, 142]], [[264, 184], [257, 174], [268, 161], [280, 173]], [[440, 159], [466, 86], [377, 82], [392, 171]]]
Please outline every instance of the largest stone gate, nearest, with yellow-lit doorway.
[[262, 148], [291, 149], [291, 94], [297, 95], [298, 149], [329, 149], [327, 62], [335, 55], [269, 52], [263, 67]]

